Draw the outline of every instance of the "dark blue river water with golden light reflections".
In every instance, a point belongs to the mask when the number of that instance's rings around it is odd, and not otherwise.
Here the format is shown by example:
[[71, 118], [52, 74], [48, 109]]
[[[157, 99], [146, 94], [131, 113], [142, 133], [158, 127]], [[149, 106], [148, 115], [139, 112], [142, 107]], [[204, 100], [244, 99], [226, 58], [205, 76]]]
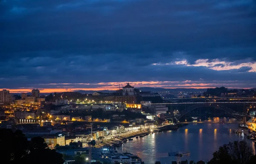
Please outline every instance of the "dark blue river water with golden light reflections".
[[215, 150], [229, 141], [245, 140], [254, 150], [253, 141], [242, 134], [233, 133], [233, 129], [237, 127], [238, 124], [189, 124], [178, 130], [153, 133], [139, 139], [134, 138], [117, 150], [137, 154], [145, 164], [154, 164], [155, 161], [171, 164], [175, 160], [174, 157], [159, 158], [160, 153], [171, 151], [190, 152], [190, 156], [182, 160], [208, 161]]

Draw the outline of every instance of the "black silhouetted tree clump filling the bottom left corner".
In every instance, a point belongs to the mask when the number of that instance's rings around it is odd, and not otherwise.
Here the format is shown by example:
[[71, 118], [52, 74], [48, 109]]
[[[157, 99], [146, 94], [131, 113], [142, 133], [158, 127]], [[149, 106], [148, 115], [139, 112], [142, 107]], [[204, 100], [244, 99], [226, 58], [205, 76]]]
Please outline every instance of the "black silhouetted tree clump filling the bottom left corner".
[[27, 141], [24, 134], [17, 130], [0, 129], [0, 153], [3, 164], [63, 164], [62, 155], [50, 150], [44, 139], [34, 137]]

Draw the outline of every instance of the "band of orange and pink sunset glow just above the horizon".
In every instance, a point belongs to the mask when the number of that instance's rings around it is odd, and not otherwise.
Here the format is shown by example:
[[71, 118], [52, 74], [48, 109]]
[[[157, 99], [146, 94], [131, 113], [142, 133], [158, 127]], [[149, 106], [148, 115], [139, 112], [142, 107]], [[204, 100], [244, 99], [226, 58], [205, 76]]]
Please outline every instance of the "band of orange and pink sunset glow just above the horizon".
[[[41, 87], [38, 87], [41, 93], [53, 93], [53, 92], [72, 92], [76, 90], [118, 90], [119, 85], [122, 88], [126, 85], [127, 82], [99, 82], [99, 83], [50, 83], [50, 84], [39, 84]], [[183, 82], [177, 81], [142, 81], [142, 82], [130, 82], [130, 85], [135, 88], [140, 87], [151, 87], [151, 88], [195, 88], [195, 89], [204, 89], [204, 88], [214, 88], [215, 83], [202, 83], [202, 82], [192, 82], [186, 80]], [[79, 86], [79, 87], [77, 87]], [[88, 88], [85, 88], [87, 86]], [[22, 87], [22, 88], [4, 88], [10, 90], [11, 93], [23, 93], [31, 92], [33, 87]]]

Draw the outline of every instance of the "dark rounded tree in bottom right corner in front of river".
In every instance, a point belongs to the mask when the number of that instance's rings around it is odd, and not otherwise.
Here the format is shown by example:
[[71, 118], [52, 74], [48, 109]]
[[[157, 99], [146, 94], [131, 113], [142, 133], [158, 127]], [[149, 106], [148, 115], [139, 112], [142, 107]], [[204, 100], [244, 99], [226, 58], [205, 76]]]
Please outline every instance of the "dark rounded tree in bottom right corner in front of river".
[[256, 156], [245, 141], [234, 141], [219, 147], [208, 164], [254, 164]]

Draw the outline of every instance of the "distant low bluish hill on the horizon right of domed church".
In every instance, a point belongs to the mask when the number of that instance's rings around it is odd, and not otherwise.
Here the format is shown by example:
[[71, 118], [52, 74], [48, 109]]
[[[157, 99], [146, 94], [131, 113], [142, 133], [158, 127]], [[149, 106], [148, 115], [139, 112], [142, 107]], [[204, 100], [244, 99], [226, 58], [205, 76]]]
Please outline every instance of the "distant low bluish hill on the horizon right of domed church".
[[151, 91], [151, 92], [205, 92], [207, 89], [195, 89], [195, 88], [151, 88], [151, 87], [141, 87], [138, 88], [141, 91]]

